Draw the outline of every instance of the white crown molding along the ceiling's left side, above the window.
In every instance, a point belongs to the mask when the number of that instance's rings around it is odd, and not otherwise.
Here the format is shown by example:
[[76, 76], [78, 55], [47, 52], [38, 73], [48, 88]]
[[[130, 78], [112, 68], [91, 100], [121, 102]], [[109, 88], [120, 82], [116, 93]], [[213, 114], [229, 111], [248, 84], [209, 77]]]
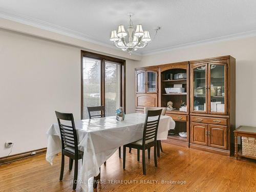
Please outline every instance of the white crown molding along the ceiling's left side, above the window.
[[[39, 28], [39, 29], [44, 29], [44, 30], [47, 30], [47, 31], [50, 31], [50, 32], [61, 34], [61, 35], [66, 35], [66, 36], [77, 38], [77, 39], [80, 39], [80, 40], [92, 42], [93, 44], [108, 47], [108, 48], [115, 49], [115, 50], [118, 50], [118, 51], [121, 52], [121, 50], [116, 48], [115, 46], [110, 45], [110, 44], [106, 44], [103, 41], [99, 41], [91, 35], [81, 33], [81, 32], [78, 32], [78, 31], [75, 31], [75, 30], [72, 30], [72, 29], [64, 28], [64, 27], [61, 27], [61, 26], [58, 26], [58, 25], [54, 25], [54, 24], [51, 24], [51, 23], [48, 23], [48, 22], [44, 22], [42, 20], [30, 17], [30, 16], [26, 16], [26, 15], [23, 15], [23, 14], [20, 14], [20, 13], [16, 13], [16, 12], [13, 12], [13, 11], [9, 11], [7, 9], [0, 8], [0, 18], [9, 19], [9, 20], [12, 20], [14, 22], [22, 23], [22, 24], [25, 24], [25, 25], [29, 25], [29, 26], [32, 26], [32, 27]], [[141, 56], [141, 54], [138, 53], [138, 52], [133, 53], [133, 54]]]

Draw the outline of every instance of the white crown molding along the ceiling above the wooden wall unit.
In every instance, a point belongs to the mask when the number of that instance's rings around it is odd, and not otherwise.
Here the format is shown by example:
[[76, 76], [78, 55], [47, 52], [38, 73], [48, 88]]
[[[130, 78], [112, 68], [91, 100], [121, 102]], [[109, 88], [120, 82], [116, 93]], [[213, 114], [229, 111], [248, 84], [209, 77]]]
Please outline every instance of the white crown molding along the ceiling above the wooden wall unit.
[[212, 44], [215, 42], [221, 42], [221, 41], [228, 41], [228, 40], [236, 40], [236, 39], [241, 39], [241, 38], [246, 38], [246, 37], [254, 37], [256, 36], [256, 30], [252, 31], [246, 31], [242, 33], [236, 33], [236, 34], [231, 34], [231, 35], [225, 35], [221, 37], [215, 37], [215, 38], [209, 38], [205, 40], [199, 40], [199, 41], [194, 41], [194, 42], [188, 42], [186, 44], [181, 44], [181, 45], [176, 45], [176, 46], [169, 46], [161, 49], [155, 49], [151, 51], [144, 51], [142, 53], [142, 56], [146, 55], [155, 55], [159, 53], [164, 53], [168, 52], [174, 49], [183, 49], [187, 47], [193, 47], [193, 46], [198, 46], [198, 45], [204, 45], [204, 44]]

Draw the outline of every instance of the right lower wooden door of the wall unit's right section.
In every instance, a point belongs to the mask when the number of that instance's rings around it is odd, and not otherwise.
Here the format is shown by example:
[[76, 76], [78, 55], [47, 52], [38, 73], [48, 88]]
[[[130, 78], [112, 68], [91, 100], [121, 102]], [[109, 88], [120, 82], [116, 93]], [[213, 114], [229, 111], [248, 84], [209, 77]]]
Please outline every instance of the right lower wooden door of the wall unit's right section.
[[209, 146], [227, 149], [227, 126], [208, 125]]

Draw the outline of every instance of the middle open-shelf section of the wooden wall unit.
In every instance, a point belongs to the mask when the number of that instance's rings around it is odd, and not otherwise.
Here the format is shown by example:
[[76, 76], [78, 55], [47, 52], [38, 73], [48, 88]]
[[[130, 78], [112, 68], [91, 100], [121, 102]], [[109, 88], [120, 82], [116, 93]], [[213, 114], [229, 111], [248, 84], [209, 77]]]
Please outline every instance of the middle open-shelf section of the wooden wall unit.
[[167, 107], [166, 115], [176, 123], [168, 133], [170, 143], [189, 143], [189, 64], [172, 63], [159, 68], [159, 106]]

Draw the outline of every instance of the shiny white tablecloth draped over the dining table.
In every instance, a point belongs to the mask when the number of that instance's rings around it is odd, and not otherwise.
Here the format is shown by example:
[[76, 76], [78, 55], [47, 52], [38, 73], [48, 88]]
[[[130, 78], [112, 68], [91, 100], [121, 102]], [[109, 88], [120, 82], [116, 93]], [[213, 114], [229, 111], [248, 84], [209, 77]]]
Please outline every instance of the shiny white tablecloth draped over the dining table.
[[[86, 119], [75, 122], [78, 147], [83, 151], [81, 167], [82, 188], [88, 191], [87, 181], [99, 174], [99, 167], [109, 159], [119, 146], [142, 138], [145, 114], [126, 114], [124, 121], [114, 116]], [[167, 139], [168, 130], [173, 129], [175, 121], [169, 116], [161, 116], [158, 127], [158, 140]], [[47, 131], [48, 144], [46, 160], [51, 164], [56, 154], [61, 153], [61, 140], [58, 123]]]

